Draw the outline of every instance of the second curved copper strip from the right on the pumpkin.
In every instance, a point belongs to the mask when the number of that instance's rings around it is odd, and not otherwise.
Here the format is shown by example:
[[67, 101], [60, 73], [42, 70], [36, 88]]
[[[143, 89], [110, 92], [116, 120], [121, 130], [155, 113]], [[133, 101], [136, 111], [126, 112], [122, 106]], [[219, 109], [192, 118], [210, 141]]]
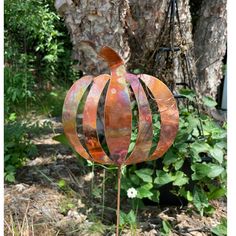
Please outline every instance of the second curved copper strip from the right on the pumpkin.
[[129, 165], [147, 160], [152, 147], [153, 129], [152, 113], [142, 84], [138, 77], [133, 74], [127, 74], [126, 80], [134, 91], [139, 111], [138, 137], [134, 150], [125, 161], [125, 164]]

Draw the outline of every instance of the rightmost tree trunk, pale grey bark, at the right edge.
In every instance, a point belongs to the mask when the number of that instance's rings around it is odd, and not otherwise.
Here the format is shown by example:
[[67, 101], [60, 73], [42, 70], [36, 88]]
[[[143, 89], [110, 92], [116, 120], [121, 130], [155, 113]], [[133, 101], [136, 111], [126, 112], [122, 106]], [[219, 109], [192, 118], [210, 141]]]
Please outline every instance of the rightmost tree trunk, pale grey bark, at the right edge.
[[194, 32], [194, 48], [199, 90], [215, 98], [226, 52], [226, 0], [203, 0]]

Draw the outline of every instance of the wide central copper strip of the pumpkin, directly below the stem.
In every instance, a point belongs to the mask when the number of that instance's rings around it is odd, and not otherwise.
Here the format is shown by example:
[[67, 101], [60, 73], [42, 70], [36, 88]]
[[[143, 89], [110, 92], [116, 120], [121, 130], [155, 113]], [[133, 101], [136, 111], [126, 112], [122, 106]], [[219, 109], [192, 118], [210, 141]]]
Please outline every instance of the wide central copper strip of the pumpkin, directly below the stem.
[[105, 136], [110, 158], [121, 165], [125, 161], [132, 131], [130, 97], [123, 65], [111, 70], [105, 101]]

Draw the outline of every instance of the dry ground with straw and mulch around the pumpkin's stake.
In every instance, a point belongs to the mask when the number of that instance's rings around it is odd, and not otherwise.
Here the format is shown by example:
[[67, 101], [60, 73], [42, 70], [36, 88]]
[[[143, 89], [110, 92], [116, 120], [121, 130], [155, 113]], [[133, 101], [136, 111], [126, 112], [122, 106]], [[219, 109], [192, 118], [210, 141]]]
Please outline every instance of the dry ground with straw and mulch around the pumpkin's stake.
[[[5, 235], [115, 235], [115, 172], [76, 158], [52, 139], [62, 133], [60, 119], [40, 120], [45, 121], [53, 128], [32, 136], [37, 156], [18, 171], [15, 184], [5, 184]], [[121, 235], [162, 235], [163, 220], [172, 225], [172, 236], [212, 235], [227, 214], [225, 200], [212, 204], [211, 216], [200, 216], [191, 205], [146, 205], [138, 211], [136, 228], [124, 227]], [[125, 198], [121, 209], [131, 209]]]

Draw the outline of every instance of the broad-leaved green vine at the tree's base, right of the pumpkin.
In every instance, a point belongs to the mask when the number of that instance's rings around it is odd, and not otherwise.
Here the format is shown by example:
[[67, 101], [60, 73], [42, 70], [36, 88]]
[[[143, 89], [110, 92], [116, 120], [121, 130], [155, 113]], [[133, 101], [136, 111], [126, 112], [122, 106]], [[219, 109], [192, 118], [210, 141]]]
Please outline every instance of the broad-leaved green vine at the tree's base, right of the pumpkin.
[[[184, 93], [186, 97], [194, 96], [191, 91]], [[193, 203], [201, 215], [211, 214], [214, 209], [210, 200], [226, 195], [225, 154], [225, 125], [220, 126], [207, 115], [199, 116], [191, 106], [181, 108], [179, 131], [172, 147], [162, 159], [126, 167], [121, 187], [123, 191], [134, 187], [139, 199], [158, 202], [160, 187], [171, 184], [173, 194]]]

